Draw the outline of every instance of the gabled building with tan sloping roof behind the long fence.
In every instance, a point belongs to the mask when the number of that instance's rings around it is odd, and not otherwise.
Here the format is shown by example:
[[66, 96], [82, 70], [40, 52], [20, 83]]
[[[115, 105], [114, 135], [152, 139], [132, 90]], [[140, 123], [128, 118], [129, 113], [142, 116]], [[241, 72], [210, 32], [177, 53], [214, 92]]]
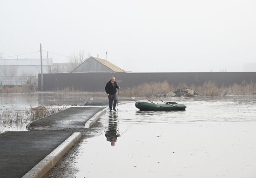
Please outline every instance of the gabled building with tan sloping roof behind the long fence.
[[90, 57], [81, 65], [77, 66], [71, 73], [89, 73], [89, 72], [107, 72], [107, 73], [125, 73], [125, 70], [106, 59]]

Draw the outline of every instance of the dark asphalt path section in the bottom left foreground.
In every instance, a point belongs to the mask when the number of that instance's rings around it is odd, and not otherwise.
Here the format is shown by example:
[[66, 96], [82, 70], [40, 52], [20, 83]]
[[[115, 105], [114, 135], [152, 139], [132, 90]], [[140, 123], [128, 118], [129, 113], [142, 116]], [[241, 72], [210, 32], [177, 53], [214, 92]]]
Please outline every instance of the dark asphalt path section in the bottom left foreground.
[[0, 134], [0, 178], [20, 178], [73, 132], [29, 131]]

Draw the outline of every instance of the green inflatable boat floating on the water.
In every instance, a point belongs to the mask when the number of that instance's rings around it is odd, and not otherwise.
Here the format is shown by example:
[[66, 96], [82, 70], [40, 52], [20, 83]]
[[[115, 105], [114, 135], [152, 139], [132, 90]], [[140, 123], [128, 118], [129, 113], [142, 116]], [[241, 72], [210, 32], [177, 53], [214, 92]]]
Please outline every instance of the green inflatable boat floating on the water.
[[187, 106], [175, 102], [141, 100], [135, 103], [141, 111], [184, 111]]

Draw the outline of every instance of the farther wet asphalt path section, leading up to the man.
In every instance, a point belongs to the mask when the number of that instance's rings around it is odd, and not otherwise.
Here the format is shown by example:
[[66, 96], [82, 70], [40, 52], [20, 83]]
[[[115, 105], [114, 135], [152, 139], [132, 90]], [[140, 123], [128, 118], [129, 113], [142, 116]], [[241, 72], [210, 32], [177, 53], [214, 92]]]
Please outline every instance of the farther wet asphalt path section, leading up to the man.
[[36, 120], [27, 126], [29, 130], [35, 129], [68, 129], [83, 128], [94, 114], [105, 107], [71, 107], [56, 114]]

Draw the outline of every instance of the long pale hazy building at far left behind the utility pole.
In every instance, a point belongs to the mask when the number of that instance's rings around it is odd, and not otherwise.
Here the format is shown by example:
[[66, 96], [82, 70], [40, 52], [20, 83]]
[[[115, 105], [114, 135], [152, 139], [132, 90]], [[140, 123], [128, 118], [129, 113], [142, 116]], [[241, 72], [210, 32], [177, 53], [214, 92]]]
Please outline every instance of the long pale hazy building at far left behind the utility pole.
[[[53, 59], [42, 59], [43, 73], [52, 73]], [[1, 85], [24, 85], [35, 82], [41, 73], [40, 59], [0, 59]]]

